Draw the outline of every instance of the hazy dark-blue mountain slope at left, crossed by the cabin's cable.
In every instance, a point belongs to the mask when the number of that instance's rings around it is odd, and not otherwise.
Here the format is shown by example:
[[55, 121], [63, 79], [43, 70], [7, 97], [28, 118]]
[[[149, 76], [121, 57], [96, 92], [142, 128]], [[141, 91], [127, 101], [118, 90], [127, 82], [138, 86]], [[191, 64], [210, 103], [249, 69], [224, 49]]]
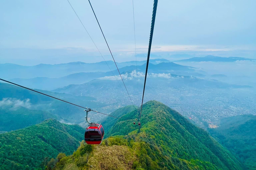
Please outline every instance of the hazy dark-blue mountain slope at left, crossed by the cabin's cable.
[[[42, 93], [54, 96], [59, 99], [63, 99], [65, 101], [69, 101], [71, 103], [76, 103], [82, 106], [90, 106], [91, 108], [97, 109], [106, 106], [106, 104], [102, 104], [99, 102], [94, 102], [96, 98], [88, 97], [88, 96], [73, 96], [65, 93], [55, 93], [50, 91], [38, 90]], [[50, 98], [48, 96], [44, 96], [42, 94], [35, 93], [33, 91], [7, 84], [0, 83], [0, 105], [1, 101], [4, 99], [8, 99], [11, 101], [29, 101], [28, 103], [31, 105], [31, 110], [42, 110], [45, 112], [49, 112], [52, 115], [56, 115], [57, 118], [65, 118], [65, 122], [72, 124], [79, 124], [84, 121], [84, 111], [81, 108], [76, 106], [58, 101], [56, 99]], [[59, 119], [58, 119], [59, 120]], [[17, 120], [19, 121], [19, 120]]]

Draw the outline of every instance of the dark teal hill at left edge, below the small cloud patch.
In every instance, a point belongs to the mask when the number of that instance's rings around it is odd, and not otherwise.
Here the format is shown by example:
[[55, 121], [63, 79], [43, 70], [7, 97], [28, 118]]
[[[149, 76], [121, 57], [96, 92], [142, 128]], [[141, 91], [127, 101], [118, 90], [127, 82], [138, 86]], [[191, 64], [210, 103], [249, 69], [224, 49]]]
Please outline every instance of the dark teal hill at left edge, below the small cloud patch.
[[39, 124], [46, 119], [57, 118], [49, 112], [29, 110], [24, 107], [0, 108], [0, 131], [11, 131]]

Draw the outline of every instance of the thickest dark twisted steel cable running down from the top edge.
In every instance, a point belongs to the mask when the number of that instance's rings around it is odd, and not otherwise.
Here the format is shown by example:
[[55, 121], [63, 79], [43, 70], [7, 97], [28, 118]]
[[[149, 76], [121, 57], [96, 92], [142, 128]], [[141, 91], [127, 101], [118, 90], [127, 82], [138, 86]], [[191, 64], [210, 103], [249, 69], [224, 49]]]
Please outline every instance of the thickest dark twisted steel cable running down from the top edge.
[[154, 26], [155, 26], [157, 2], [158, 2], [158, 0], [154, 0], [152, 21], [151, 21], [151, 29], [150, 29], [150, 36], [149, 36], [149, 44], [148, 44], [147, 65], [146, 65], [146, 72], [145, 72], [145, 80], [144, 80], [144, 88], [143, 88], [143, 95], [142, 95], [142, 102], [141, 102], [141, 109], [140, 109], [140, 116], [139, 116], [139, 123], [140, 123], [141, 112], [142, 112], [142, 105], [143, 105], [144, 92], [145, 92], [145, 86], [146, 86], [146, 79], [147, 79], [147, 73], [148, 73], [148, 63], [149, 63], [151, 44], [152, 44], [152, 38], [153, 38], [153, 32], [154, 32]]

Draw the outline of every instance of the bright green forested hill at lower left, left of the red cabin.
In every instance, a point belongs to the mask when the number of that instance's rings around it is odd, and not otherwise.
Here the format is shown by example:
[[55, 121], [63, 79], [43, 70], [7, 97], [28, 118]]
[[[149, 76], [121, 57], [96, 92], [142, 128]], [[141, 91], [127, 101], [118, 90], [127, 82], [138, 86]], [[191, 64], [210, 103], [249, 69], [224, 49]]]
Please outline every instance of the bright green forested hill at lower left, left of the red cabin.
[[40, 124], [0, 134], [0, 169], [42, 168], [42, 161], [67, 155], [83, 140], [84, 128], [49, 119]]

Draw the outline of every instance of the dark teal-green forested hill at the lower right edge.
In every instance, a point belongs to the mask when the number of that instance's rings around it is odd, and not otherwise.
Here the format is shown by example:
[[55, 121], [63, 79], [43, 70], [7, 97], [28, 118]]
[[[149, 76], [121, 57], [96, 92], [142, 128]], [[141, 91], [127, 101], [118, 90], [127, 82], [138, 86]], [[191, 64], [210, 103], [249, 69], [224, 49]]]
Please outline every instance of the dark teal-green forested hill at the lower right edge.
[[255, 129], [255, 115], [240, 115], [222, 119], [220, 127], [209, 131], [222, 145], [237, 155], [245, 169], [256, 170]]

